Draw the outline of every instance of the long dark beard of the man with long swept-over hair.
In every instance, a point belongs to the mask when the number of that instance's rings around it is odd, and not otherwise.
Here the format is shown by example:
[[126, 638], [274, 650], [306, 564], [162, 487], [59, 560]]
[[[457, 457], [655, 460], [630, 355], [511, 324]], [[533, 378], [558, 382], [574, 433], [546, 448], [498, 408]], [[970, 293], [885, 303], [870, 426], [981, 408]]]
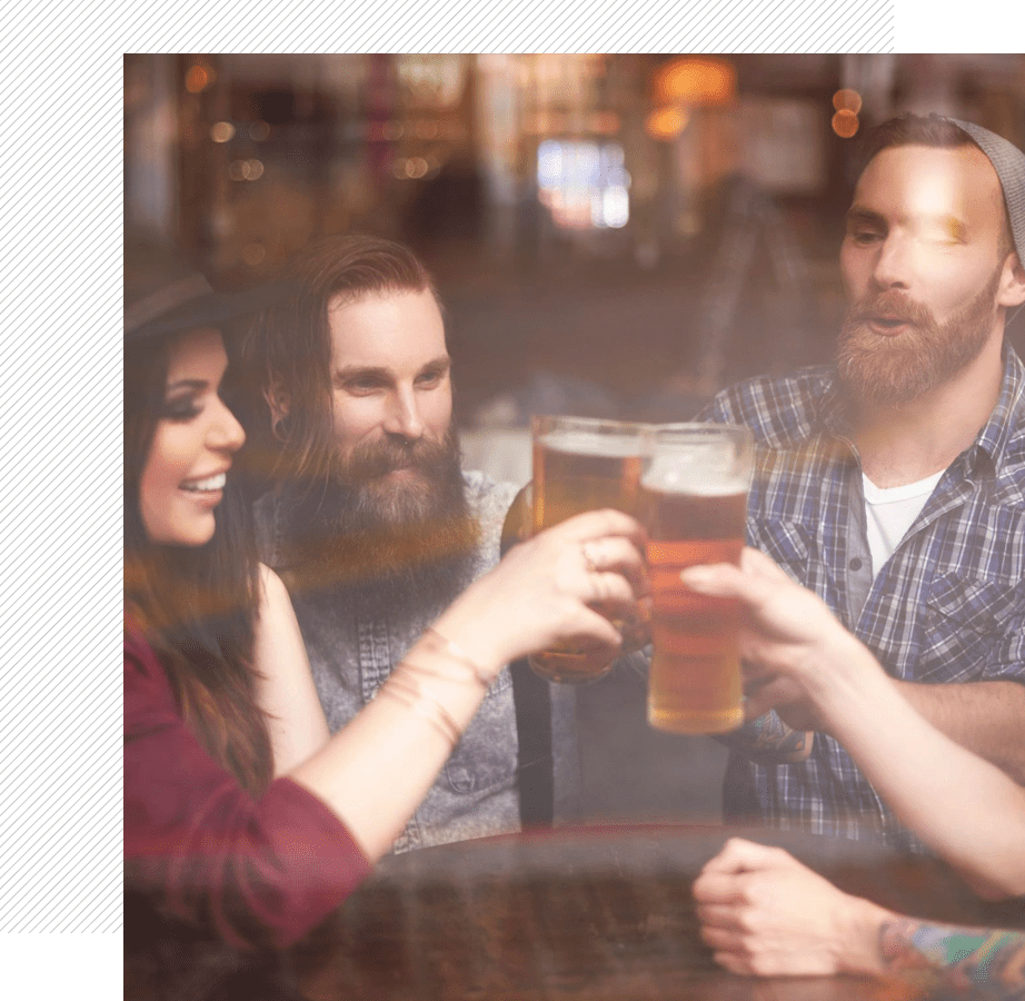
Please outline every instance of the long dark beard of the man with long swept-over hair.
[[289, 513], [292, 586], [340, 584], [388, 604], [416, 595], [448, 604], [469, 583], [478, 525], [451, 427], [440, 443], [384, 438], [349, 456], [336, 452], [321, 483]]

